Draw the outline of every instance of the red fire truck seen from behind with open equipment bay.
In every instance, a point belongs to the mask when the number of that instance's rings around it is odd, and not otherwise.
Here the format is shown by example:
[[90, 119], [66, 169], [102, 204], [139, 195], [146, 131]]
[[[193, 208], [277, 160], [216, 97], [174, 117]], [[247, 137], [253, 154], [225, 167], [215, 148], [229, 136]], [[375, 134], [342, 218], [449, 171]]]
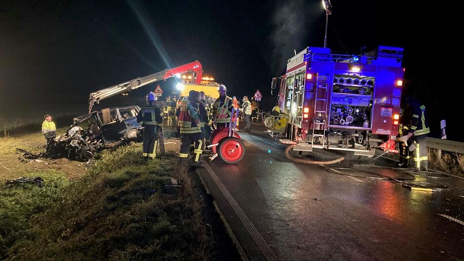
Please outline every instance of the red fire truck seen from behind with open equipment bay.
[[301, 154], [315, 148], [373, 156], [395, 150], [404, 68], [403, 48], [379, 46], [361, 55], [307, 47], [290, 58], [280, 79], [278, 104], [287, 121], [271, 130]]

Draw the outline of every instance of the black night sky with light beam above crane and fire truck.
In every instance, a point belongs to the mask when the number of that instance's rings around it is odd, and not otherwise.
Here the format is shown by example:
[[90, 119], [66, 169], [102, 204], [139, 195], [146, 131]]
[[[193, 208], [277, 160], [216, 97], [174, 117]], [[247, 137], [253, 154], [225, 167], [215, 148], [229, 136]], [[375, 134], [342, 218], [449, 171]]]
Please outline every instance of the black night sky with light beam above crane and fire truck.
[[[459, 16], [452, 14], [458, 8], [413, 2], [333, 0], [327, 45], [346, 54], [362, 46], [404, 47], [406, 92], [426, 105], [435, 133], [446, 119], [449, 138], [463, 140], [461, 76], [451, 66], [462, 56], [454, 36], [461, 25], [453, 23]], [[91, 91], [194, 60], [231, 96], [259, 88], [269, 105], [271, 78], [284, 73], [294, 49], [321, 46], [324, 26], [319, 0], [3, 0], [1, 113], [85, 105]], [[161, 83], [165, 92], [173, 85]]]

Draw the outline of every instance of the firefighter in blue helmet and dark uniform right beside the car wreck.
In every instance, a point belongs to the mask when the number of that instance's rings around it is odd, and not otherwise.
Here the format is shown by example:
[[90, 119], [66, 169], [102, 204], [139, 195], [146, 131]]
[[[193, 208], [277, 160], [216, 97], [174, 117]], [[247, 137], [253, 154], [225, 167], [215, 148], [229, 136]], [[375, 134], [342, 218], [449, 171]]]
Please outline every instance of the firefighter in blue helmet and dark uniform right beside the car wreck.
[[137, 115], [137, 122], [144, 127], [143, 131], [143, 156], [145, 159], [156, 157], [158, 146], [158, 130], [163, 126], [163, 112], [156, 106], [157, 97], [150, 91], [147, 95], [147, 106], [142, 108]]

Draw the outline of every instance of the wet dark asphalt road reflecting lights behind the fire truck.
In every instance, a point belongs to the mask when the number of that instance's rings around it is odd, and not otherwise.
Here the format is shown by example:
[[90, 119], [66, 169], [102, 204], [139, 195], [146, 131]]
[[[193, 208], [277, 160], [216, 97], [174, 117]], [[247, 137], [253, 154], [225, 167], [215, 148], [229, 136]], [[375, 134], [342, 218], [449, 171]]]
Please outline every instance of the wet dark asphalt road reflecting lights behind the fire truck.
[[[284, 145], [260, 126], [252, 128], [252, 135], [240, 132], [246, 147], [242, 161], [228, 165], [217, 158], [198, 169], [248, 259], [464, 260], [464, 223], [459, 223], [464, 179], [421, 174], [416, 181], [453, 187], [422, 192], [396, 181], [334, 174], [291, 162]], [[354, 167], [339, 171], [361, 176], [375, 175], [359, 170], [407, 177], [353, 161], [335, 167]]]

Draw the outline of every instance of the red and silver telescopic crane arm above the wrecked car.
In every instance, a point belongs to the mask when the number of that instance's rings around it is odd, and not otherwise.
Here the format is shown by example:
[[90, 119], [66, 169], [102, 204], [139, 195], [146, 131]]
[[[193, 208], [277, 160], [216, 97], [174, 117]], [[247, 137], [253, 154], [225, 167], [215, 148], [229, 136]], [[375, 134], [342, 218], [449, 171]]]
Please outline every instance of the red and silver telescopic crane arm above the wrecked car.
[[90, 93], [90, 97], [88, 99], [88, 112], [91, 112], [94, 104], [99, 104], [102, 100], [105, 100], [106, 98], [118, 94], [123, 94], [151, 83], [166, 80], [168, 78], [176, 76], [176, 74], [182, 74], [187, 72], [194, 72], [196, 74], [194, 83], [200, 84], [201, 77], [203, 75], [203, 69], [200, 62], [197, 60], [189, 64], [181, 65], [172, 69], [165, 69], [144, 77], [138, 77], [115, 86], [107, 87], [105, 89], [92, 92]]

